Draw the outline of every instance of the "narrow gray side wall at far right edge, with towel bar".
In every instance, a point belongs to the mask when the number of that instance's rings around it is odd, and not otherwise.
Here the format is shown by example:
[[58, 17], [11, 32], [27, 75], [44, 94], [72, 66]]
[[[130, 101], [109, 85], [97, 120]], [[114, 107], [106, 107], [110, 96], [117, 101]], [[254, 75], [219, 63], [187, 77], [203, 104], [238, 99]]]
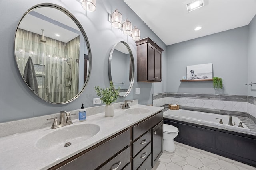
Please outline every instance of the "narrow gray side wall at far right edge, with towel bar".
[[[249, 24], [248, 37], [248, 81], [256, 83], [256, 15]], [[248, 96], [256, 97], [256, 84], [247, 85]]]

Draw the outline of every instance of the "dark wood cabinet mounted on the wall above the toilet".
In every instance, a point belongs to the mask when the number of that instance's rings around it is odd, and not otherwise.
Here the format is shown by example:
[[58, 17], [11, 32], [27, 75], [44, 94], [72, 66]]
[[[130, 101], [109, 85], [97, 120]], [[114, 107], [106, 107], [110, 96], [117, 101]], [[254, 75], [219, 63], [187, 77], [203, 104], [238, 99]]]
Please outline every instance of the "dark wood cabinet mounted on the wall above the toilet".
[[136, 41], [136, 45], [137, 82], [161, 82], [164, 50], [148, 37]]

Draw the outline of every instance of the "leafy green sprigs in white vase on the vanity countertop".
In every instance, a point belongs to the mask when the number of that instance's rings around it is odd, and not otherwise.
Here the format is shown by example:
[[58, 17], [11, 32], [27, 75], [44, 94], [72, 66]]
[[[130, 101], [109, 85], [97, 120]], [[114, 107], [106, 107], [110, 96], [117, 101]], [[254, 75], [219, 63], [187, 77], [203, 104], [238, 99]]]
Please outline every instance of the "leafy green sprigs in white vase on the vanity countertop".
[[100, 97], [100, 100], [102, 100], [103, 103], [106, 104], [105, 106], [105, 116], [106, 117], [112, 117], [114, 116], [114, 106], [112, 105], [112, 102], [115, 102], [118, 98], [119, 90], [115, 89], [113, 82], [110, 82], [109, 88], [100, 88], [99, 86], [95, 86], [96, 94]]

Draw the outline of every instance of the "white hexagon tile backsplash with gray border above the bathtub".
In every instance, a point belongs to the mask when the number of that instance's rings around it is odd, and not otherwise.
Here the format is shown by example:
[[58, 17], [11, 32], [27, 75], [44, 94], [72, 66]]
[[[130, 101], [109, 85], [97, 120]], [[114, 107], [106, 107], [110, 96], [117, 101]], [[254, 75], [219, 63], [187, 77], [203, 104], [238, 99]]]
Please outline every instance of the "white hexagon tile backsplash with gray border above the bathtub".
[[153, 106], [178, 104], [182, 109], [246, 116], [256, 123], [256, 97], [219, 94], [153, 94]]

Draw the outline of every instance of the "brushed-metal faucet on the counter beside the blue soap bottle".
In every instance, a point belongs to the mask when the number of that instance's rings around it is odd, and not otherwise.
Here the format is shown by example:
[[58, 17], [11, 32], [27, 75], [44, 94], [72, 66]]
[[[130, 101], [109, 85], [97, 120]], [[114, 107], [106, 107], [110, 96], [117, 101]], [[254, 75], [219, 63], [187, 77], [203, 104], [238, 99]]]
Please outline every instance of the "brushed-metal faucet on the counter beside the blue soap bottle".
[[[70, 119], [71, 115], [75, 115], [75, 114], [71, 114], [68, 111], [60, 111], [60, 122], [58, 122], [58, 118], [57, 117], [50, 118], [50, 119], [47, 119], [47, 120], [54, 119], [54, 121], [52, 123], [52, 129], [56, 129], [58, 127], [63, 127], [63, 126], [66, 126], [66, 125], [73, 124], [73, 122]], [[65, 116], [67, 116], [66, 119], [65, 119]]]

